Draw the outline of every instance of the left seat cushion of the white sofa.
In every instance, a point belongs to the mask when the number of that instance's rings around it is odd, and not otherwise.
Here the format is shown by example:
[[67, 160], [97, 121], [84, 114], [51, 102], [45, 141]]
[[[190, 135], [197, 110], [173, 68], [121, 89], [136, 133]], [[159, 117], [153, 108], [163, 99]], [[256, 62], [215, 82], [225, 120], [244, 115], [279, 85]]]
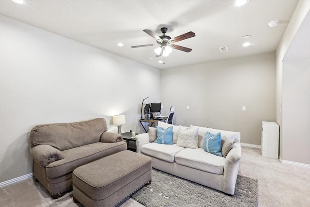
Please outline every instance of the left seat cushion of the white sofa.
[[184, 150], [184, 147], [177, 146], [176, 144], [147, 143], [141, 147], [143, 154], [168, 162], [174, 162], [174, 156], [182, 150]]

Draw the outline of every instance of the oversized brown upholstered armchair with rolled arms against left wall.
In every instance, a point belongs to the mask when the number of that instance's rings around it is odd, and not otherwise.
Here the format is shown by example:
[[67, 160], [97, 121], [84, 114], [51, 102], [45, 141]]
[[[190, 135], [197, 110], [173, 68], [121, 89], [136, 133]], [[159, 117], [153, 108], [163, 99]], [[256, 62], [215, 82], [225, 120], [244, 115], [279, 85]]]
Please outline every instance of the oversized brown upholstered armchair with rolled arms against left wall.
[[103, 118], [31, 129], [33, 175], [52, 198], [72, 189], [77, 167], [127, 149], [122, 136], [107, 129]]

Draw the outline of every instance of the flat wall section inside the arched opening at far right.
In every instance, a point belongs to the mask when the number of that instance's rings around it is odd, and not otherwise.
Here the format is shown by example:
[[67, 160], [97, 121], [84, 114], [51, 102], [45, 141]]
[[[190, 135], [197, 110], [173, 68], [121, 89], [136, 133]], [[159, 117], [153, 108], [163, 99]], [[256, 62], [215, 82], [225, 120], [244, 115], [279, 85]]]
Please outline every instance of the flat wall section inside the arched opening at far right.
[[282, 100], [281, 159], [310, 164], [310, 59], [283, 62]]

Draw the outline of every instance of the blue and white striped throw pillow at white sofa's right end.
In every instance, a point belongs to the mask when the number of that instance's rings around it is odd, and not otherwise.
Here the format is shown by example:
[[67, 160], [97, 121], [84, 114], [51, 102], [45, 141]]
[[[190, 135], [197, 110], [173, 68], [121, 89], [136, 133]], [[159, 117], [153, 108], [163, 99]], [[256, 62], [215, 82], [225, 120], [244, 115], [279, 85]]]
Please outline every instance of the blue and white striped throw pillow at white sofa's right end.
[[222, 157], [222, 136], [221, 133], [212, 134], [205, 132], [203, 140], [203, 149], [206, 152]]

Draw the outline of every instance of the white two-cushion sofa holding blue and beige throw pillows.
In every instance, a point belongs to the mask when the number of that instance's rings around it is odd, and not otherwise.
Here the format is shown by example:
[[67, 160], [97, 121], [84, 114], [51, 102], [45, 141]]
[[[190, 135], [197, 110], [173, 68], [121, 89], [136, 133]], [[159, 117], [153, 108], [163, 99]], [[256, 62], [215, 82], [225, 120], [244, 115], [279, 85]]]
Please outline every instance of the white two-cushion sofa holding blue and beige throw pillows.
[[[172, 125], [159, 122], [158, 126]], [[136, 135], [137, 153], [149, 156], [155, 169], [233, 195], [241, 158], [240, 132], [199, 127], [198, 149], [191, 149], [176, 145], [178, 130], [179, 126], [173, 125], [173, 144], [149, 142], [149, 133]], [[206, 131], [221, 132], [222, 139], [232, 141], [233, 148], [226, 158], [204, 151]]]

